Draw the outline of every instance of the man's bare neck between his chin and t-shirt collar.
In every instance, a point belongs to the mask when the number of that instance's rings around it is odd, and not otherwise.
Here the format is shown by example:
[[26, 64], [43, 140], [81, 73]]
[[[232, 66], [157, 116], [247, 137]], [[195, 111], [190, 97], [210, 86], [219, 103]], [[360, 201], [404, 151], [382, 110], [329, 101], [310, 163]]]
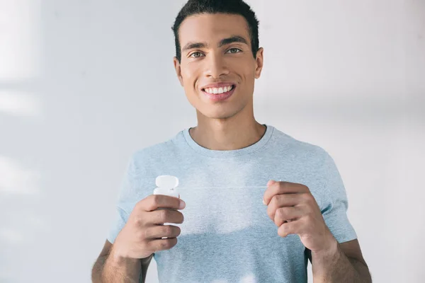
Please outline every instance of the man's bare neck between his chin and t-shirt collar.
[[197, 112], [198, 126], [189, 133], [206, 149], [225, 151], [251, 146], [263, 137], [266, 127], [256, 122], [252, 110], [244, 111], [225, 119], [212, 119]]

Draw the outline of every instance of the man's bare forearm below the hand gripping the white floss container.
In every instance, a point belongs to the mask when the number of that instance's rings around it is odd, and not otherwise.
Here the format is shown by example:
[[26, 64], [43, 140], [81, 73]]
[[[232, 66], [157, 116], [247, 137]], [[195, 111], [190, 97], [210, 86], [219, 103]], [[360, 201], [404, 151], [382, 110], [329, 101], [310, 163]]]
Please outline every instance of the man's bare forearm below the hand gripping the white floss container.
[[91, 280], [94, 283], [145, 282], [147, 267], [149, 267], [151, 260], [152, 255], [142, 260], [121, 258], [115, 253], [115, 246], [106, 241], [94, 264]]

